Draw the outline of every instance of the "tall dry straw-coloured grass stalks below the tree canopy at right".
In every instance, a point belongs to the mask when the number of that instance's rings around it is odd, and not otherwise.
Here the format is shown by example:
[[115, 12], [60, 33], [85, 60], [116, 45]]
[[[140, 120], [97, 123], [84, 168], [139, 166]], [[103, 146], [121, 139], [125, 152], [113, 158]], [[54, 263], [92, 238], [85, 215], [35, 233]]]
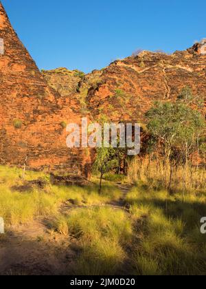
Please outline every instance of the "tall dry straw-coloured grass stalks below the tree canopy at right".
[[[128, 166], [128, 181], [141, 180], [150, 184], [150, 187], [166, 187], [170, 182], [170, 164], [163, 165], [163, 160], [149, 160], [148, 158], [134, 158]], [[192, 164], [172, 167], [171, 189], [186, 189], [194, 191], [206, 190], [205, 167]]]

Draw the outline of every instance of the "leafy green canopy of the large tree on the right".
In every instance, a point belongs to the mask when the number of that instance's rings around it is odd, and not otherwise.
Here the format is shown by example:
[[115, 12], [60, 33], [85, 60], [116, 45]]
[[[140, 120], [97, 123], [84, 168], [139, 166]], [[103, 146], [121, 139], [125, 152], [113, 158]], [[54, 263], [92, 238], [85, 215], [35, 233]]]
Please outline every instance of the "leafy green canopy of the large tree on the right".
[[155, 103], [146, 113], [151, 136], [161, 140], [165, 157], [173, 146], [191, 143], [205, 125], [203, 116], [184, 103]]

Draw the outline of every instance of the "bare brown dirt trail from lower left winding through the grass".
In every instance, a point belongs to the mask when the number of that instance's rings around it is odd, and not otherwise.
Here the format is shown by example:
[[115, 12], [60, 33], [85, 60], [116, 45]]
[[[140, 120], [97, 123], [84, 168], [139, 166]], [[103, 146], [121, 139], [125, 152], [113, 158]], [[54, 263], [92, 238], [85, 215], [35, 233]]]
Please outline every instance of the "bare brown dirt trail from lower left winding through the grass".
[[[128, 212], [125, 199], [131, 186], [118, 183], [117, 187], [122, 191], [119, 200], [102, 206]], [[91, 206], [62, 206], [60, 211], [68, 213], [76, 208]], [[0, 275], [72, 275], [78, 241], [49, 230], [48, 222], [38, 218], [0, 235]]]

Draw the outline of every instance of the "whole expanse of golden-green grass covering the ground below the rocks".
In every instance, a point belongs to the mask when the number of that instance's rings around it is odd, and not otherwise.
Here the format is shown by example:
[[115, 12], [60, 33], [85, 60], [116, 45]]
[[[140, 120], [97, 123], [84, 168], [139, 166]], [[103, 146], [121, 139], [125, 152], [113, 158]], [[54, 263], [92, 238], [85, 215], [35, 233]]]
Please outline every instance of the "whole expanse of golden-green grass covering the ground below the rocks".
[[[51, 217], [52, 230], [76, 239], [76, 275], [205, 275], [206, 239], [200, 231], [206, 203], [202, 177], [195, 179], [196, 189], [192, 189], [194, 184], [188, 185], [182, 202], [179, 182], [168, 193], [161, 173], [152, 180], [155, 167], [148, 167], [149, 172], [138, 168], [133, 175], [136, 184], [126, 195], [130, 204], [126, 213], [102, 206], [121, 195], [113, 184], [116, 176], [108, 175], [113, 182], [104, 181], [101, 195], [97, 178], [84, 188], [48, 183], [44, 189], [20, 193], [12, 186], [24, 184], [22, 171], [0, 166], [0, 215], [6, 226], [25, 224], [38, 216]], [[134, 167], [129, 172], [134, 173]], [[39, 177], [48, 178], [29, 171], [25, 175], [26, 180]], [[175, 178], [181, 180], [182, 175]], [[60, 205], [70, 199], [76, 206], [67, 215], [60, 213]]]

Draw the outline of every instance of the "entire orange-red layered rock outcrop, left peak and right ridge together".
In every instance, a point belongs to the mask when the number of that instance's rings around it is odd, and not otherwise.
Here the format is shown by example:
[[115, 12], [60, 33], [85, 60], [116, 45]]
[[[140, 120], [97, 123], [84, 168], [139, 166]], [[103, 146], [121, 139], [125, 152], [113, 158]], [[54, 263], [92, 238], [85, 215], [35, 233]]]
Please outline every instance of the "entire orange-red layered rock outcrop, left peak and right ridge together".
[[32, 169], [88, 175], [91, 151], [67, 148], [67, 123], [80, 124], [82, 116], [144, 123], [156, 100], [176, 100], [186, 86], [205, 98], [205, 39], [171, 55], [143, 51], [87, 75], [41, 73], [0, 3], [1, 164], [27, 160]]

